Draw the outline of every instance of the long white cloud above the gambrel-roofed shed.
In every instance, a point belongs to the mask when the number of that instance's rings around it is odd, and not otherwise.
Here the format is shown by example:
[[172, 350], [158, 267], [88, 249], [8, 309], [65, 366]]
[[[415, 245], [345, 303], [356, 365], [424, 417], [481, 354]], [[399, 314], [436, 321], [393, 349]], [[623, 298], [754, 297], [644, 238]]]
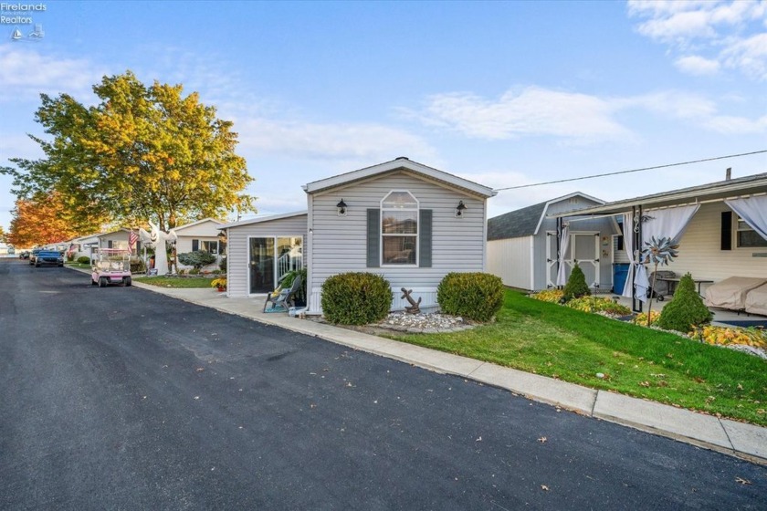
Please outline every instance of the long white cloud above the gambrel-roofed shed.
[[530, 87], [489, 100], [468, 93], [438, 94], [415, 114], [428, 125], [468, 137], [504, 140], [553, 135], [570, 141], [625, 138], [628, 130], [612, 118], [609, 101], [586, 94]]

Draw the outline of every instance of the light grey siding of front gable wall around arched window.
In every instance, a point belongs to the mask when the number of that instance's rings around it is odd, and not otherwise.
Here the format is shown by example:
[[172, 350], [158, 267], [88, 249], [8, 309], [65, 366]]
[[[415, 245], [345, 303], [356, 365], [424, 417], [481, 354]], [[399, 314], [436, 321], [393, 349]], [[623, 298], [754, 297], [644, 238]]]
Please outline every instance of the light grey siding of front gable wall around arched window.
[[[431, 267], [367, 267], [367, 210], [380, 208], [381, 200], [392, 190], [407, 190], [418, 200], [420, 209], [432, 210]], [[340, 217], [336, 204], [341, 198], [349, 207], [346, 216]], [[459, 201], [468, 209], [456, 218]], [[436, 286], [447, 273], [484, 270], [485, 203], [483, 197], [408, 172], [393, 172], [311, 195], [310, 310], [319, 311], [320, 289], [326, 278], [350, 271], [384, 275], [395, 291], [394, 308], [398, 308], [400, 287], [414, 289], [415, 299], [422, 297], [425, 305], [436, 304]]]

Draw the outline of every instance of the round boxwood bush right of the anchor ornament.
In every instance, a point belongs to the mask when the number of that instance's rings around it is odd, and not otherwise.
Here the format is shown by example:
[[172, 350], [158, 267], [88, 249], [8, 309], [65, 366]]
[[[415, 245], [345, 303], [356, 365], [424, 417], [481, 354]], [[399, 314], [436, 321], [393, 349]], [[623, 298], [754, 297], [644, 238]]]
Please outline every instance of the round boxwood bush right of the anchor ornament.
[[448, 273], [436, 287], [442, 312], [489, 321], [503, 306], [503, 282], [489, 273]]

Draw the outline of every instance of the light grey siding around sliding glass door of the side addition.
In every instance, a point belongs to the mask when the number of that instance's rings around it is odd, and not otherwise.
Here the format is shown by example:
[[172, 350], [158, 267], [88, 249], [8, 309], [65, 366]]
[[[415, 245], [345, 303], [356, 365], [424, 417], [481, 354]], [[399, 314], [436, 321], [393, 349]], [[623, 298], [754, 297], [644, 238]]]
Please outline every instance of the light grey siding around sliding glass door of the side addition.
[[[333, 204], [333, 208], [333, 212], [335, 212], [335, 204]], [[263, 222], [229, 228], [229, 237], [226, 245], [226, 292], [229, 297], [247, 297], [249, 295], [248, 239], [251, 237], [270, 236], [303, 236], [305, 244], [307, 239], [307, 215], [298, 214], [288, 218], [265, 220]], [[304, 254], [304, 257], [306, 256]]]

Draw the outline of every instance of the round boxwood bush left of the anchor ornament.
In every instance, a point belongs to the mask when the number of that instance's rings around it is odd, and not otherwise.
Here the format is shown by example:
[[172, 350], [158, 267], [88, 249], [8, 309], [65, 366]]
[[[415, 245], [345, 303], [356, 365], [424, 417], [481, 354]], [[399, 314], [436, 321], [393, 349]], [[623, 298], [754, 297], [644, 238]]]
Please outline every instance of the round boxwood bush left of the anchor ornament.
[[392, 308], [392, 286], [384, 276], [366, 272], [334, 275], [322, 284], [322, 314], [338, 325], [380, 321]]

